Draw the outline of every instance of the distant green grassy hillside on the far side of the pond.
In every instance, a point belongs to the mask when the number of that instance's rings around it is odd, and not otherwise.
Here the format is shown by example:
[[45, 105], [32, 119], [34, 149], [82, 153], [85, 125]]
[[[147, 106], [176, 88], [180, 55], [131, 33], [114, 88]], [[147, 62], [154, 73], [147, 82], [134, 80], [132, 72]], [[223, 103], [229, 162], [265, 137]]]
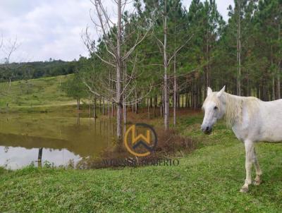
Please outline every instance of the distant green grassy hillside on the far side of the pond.
[[19, 80], [11, 83], [0, 83], [0, 91], [4, 96], [0, 98], [0, 108], [6, 108], [6, 104], [14, 107], [37, 107], [37, 106], [58, 106], [62, 104], [75, 104], [74, 100], [66, 97], [59, 88], [71, 75], [60, 75], [56, 77], [38, 78], [32, 80]]

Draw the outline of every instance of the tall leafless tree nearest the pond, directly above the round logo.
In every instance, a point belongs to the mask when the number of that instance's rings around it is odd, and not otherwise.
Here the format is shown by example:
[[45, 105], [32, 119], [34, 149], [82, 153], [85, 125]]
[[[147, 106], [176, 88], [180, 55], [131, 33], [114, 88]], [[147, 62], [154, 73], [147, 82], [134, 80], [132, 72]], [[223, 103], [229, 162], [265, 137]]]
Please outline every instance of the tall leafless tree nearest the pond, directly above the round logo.
[[[97, 86], [95, 87], [94, 84], [92, 86], [89, 85], [86, 80], [85, 80], [85, 84], [90, 89], [90, 91], [95, 95], [104, 97], [108, 101], [108, 103], [114, 102], [116, 104], [116, 122], [117, 122], [116, 133], [118, 140], [121, 140], [122, 137], [121, 117], [123, 111], [122, 110], [123, 104], [125, 104], [125, 102], [123, 102], [123, 99], [125, 99], [126, 96], [129, 96], [133, 92], [133, 87], [132, 86], [130, 87], [133, 80], [133, 76], [127, 75], [125, 73], [125, 75], [127, 76], [127, 80], [126, 83], [123, 82], [122, 79], [123, 63], [129, 58], [131, 54], [133, 54], [133, 51], [135, 50], [137, 45], [140, 44], [140, 42], [142, 42], [143, 39], [145, 39], [147, 33], [149, 32], [149, 28], [145, 29], [145, 33], [141, 33], [137, 31], [137, 38], [135, 39], [134, 44], [130, 48], [126, 48], [127, 51], [123, 52], [123, 47], [125, 47], [125, 45], [128, 44], [128, 40], [130, 39], [130, 37], [123, 37], [123, 30], [125, 26], [122, 25], [122, 15], [125, 10], [125, 6], [128, 4], [128, 0], [114, 1], [117, 11], [116, 23], [114, 23], [114, 21], [111, 20], [110, 14], [102, 4], [101, 0], [90, 0], [90, 1], [92, 2], [95, 8], [95, 14], [96, 14], [96, 17], [91, 16], [92, 22], [94, 23], [94, 26], [100, 35], [99, 40], [104, 45], [108, 57], [103, 57], [102, 54], [99, 52], [99, 49], [97, 48], [99, 47], [99, 45], [98, 46], [94, 45], [93, 39], [89, 32], [89, 28], [85, 30], [85, 33], [82, 35], [82, 39], [85, 42], [86, 47], [89, 49], [91, 55], [96, 56], [98, 59], [103, 61], [107, 66], [114, 68], [115, 75], [112, 76], [114, 76], [115, 78], [111, 79], [111, 81], [112, 82], [114, 81], [115, 88], [111, 87], [111, 89], [113, 90], [109, 92], [109, 86], [103, 87], [105, 89], [103, 91], [101, 90], [101, 87], [99, 88]], [[97, 20], [95, 18], [97, 18]], [[134, 73], [134, 69], [132, 73]], [[107, 76], [109, 76], [109, 73], [107, 73]], [[102, 80], [102, 82], [109, 83], [109, 79]], [[128, 90], [129, 92], [126, 92], [125, 95], [125, 91]], [[111, 95], [111, 97], [109, 97], [109, 93], [114, 95]]]

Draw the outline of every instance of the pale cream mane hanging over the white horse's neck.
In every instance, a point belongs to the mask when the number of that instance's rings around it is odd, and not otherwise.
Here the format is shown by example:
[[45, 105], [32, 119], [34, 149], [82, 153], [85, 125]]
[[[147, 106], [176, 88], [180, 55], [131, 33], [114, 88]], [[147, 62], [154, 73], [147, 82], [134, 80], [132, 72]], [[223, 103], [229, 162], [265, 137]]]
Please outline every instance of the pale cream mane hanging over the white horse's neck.
[[226, 97], [226, 126], [229, 128], [233, 126], [236, 121], [242, 123], [243, 121], [243, 107], [247, 107], [247, 113], [251, 119], [255, 111], [257, 111], [259, 99], [256, 97], [241, 97], [231, 95], [226, 92], [223, 94]]

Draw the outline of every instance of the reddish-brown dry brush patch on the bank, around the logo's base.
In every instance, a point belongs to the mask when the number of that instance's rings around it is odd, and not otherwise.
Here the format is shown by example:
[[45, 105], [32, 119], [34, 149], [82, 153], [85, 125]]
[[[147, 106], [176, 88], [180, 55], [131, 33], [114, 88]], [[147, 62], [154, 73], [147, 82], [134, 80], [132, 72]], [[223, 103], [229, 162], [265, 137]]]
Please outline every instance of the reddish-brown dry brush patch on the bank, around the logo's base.
[[[122, 144], [116, 144], [101, 153], [99, 158], [85, 158], [78, 162], [77, 169], [118, 168], [123, 166], [147, 166], [164, 163], [166, 159], [178, 159], [197, 148], [198, 142], [181, 137], [176, 130], [157, 129], [157, 147], [147, 157], [130, 154]], [[162, 161], [162, 162], [161, 162]]]

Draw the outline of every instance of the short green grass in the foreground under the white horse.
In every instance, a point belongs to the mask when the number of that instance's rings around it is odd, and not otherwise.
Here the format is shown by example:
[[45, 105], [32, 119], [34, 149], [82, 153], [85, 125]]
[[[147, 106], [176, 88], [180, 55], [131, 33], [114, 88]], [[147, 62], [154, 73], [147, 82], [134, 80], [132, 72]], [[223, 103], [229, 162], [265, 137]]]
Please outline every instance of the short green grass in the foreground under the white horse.
[[282, 144], [257, 145], [264, 183], [242, 194], [243, 144], [223, 123], [202, 135], [201, 118], [180, 120], [181, 133], [203, 146], [179, 166], [2, 170], [0, 212], [281, 212]]

